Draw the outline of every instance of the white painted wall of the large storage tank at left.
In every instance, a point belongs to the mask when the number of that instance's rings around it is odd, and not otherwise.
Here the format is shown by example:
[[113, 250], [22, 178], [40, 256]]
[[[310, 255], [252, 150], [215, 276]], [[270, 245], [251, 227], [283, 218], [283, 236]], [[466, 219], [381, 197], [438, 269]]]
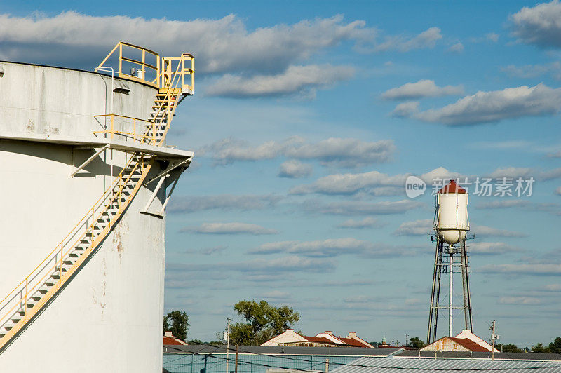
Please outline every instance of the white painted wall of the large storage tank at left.
[[[93, 137], [109, 107], [111, 78], [0, 62], [0, 133]], [[106, 87], [107, 83], [107, 87]], [[126, 82], [117, 114], [148, 118], [156, 90]], [[125, 154], [65, 144], [0, 140], [0, 299], [81, 219], [120, 171]], [[161, 172], [156, 166], [151, 175]], [[149, 176], [150, 177], [150, 176]], [[0, 355], [0, 372], [161, 372], [165, 221], [140, 214], [156, 183], [142, 186], [100, 250]], [[161, 207], [164, 190], [153, 208]]]

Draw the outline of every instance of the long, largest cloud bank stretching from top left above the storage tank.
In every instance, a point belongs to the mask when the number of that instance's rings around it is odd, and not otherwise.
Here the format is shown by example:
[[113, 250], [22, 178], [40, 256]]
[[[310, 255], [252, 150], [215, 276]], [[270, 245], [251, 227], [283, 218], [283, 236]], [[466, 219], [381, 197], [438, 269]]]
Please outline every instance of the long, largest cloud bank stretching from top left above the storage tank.
[[126, 40], [163, 55], [192, 53], [198, 60], [197, 71], [210, 73], [283, 72], [323, 48], [343, 41], [368, 43], [375, 34], [364, 21], [344, 22], [342, 15], [255, 30], [248, 30], [236, 15], [189, 21], [95, 17], [74, 11], [53, 17], [0, 15], [0, 40], [18, 46], [5, 52], [4, 58], [21, 60], [29, 58], [29, 52], [42, 55], [57, 46], [50, 57], [67, 63], [76, 59], [78, 48], [95, 63], [113, 48], [114, 40]]

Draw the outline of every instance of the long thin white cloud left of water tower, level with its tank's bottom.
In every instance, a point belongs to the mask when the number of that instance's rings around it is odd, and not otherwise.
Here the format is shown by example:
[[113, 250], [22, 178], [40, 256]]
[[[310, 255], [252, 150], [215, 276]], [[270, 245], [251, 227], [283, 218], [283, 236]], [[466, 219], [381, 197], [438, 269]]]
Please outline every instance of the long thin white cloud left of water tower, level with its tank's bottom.
[[356, 238], [332, 238], [316, 241], [283, 241], [265, 243], [249, 251], [250, 254], [290, 253], [304, 257], [337, 257], [339, 255], [362, 255], [364, 257], [386, 257], [404, 255], [407, 249], [393, 245], [371, 243]]

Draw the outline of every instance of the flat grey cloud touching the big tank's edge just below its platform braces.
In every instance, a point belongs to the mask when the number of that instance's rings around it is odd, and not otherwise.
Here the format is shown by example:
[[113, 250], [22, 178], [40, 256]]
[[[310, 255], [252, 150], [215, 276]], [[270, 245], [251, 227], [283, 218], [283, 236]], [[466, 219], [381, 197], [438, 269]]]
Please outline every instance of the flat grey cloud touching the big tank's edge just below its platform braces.
[[172, 198], [169, 212], [196, 212], [203, 210], [263, 210], [271, 208], [278, 201], [279, 196], [268, 195], [239, 195], [219, 194], [216, 196], [185, 197], [176, 196]]

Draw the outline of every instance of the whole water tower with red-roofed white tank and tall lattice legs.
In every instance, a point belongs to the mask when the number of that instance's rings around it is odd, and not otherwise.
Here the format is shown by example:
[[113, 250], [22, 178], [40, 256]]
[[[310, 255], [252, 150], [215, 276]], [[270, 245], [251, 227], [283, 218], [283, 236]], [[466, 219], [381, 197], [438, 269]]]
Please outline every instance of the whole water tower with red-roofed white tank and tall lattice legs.
[[[431, 306], [428, 316], [428, 332], [426, 342], [436, 340], [438, 327], [438, 311], [448, 310], [448, 336], [452, 337], [452, 313], [464, 310], [465, 329], [472, 330], [471, 297], [468, 278], [468, 255], [466, 250], [466, 233], [469, 231], [468, 193], [454, 180], [443, 186], [435, 197], [435, 217], [431, 240], [436, 241], [433, 287]], [[442, 273], [448, 273], [448, 304], [441, 305], [440, 283]], [[454, 305], [453, 280], [454, 273], [461, 273], [464, 304]]]

